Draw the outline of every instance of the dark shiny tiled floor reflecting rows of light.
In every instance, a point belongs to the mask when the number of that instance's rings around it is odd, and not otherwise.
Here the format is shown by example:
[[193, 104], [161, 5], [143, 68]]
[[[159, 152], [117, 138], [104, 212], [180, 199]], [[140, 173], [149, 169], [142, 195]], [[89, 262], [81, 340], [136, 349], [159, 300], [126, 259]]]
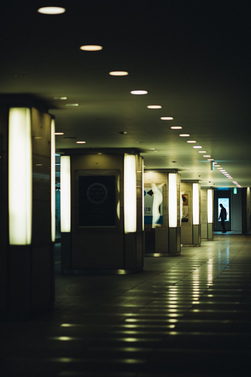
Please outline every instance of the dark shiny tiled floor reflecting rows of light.
[[57, 273], [52, 313], [0, 324], [1, 376], [249, 376], [250, 274], [251, 234], [146, 257], [136, 275]]

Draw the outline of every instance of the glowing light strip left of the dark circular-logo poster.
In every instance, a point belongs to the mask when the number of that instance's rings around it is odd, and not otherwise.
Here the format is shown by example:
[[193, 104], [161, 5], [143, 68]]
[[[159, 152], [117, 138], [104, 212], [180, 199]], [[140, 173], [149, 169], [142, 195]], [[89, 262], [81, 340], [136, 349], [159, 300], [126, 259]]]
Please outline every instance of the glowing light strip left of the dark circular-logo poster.
[[61, 156], [60, 159], [60, 212], [61, 232], [71, 231], [71, 172], [70, 156]]

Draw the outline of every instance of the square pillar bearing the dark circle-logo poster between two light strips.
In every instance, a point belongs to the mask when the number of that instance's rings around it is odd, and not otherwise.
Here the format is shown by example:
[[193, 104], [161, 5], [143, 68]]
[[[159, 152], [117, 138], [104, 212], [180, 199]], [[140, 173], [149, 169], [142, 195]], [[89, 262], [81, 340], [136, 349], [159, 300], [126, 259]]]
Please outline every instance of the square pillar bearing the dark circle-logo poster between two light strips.
[[62, 272], [141, 271], [143, 159], [139, 152], [73, 149], [58, 153], [61, 154]]

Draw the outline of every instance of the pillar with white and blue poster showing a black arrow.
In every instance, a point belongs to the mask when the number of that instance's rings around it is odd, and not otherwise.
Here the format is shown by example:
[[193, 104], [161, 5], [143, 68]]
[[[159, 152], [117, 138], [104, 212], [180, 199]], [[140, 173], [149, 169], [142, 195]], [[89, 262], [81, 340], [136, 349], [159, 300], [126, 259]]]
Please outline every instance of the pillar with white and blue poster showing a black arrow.
[[145, 256], [180, 254], [180, 174], [176, 169], [144, 173]]

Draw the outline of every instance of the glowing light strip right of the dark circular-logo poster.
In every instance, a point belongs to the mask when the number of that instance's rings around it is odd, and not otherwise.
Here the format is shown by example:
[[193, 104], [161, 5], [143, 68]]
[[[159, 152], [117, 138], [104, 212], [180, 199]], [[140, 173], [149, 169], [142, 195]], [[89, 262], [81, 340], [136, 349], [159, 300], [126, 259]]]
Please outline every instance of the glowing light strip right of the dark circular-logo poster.
[[136, 231], [136, 156], [124, 156], [124, 226], [125, 233]]

